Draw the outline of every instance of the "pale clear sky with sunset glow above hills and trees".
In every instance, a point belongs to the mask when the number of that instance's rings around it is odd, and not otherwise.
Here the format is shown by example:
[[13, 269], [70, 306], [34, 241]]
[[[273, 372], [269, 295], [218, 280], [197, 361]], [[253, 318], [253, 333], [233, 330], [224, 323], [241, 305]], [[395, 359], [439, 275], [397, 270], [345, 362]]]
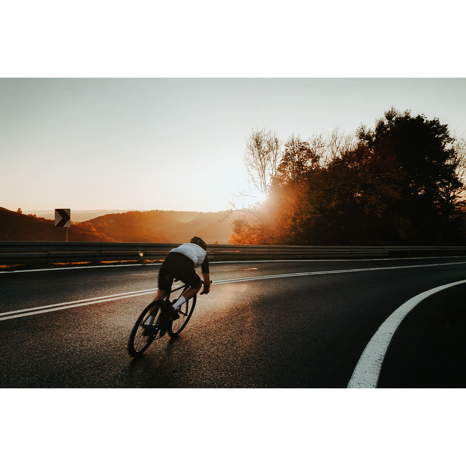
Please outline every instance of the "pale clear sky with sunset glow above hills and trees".
[[0, 206], [217, 212], [255, 128], [307, 138], [394, 106], [466, 130], [464, 78], [2, 78]]

